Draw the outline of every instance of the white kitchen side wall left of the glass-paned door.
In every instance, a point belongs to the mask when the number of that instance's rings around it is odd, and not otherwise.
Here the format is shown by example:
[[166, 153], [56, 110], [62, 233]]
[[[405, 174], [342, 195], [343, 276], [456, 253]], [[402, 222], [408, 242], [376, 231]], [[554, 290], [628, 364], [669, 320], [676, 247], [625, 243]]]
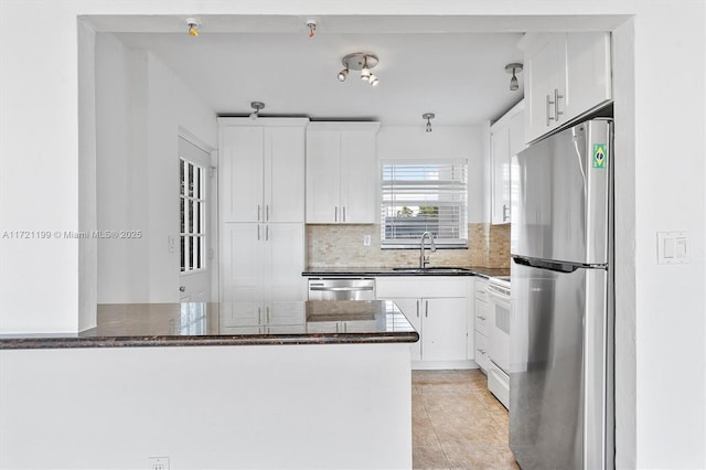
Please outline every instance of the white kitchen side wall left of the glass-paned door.
[[[216, 120], [161, 62], [97, 34], [98, 302], [179, 300], [180, 128], [215, 148]], [[168, 250], [168, 236], [176, 241]]]

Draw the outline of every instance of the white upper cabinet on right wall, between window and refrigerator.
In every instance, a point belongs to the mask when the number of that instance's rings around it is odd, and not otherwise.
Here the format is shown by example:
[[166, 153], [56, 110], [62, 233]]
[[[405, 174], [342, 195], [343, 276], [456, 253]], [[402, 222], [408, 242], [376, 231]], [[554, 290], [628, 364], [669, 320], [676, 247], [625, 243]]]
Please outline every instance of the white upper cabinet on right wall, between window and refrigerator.
[[490, 128], [491, 223], [510, 223], [512, 157], [524, 150], [524, 100]]

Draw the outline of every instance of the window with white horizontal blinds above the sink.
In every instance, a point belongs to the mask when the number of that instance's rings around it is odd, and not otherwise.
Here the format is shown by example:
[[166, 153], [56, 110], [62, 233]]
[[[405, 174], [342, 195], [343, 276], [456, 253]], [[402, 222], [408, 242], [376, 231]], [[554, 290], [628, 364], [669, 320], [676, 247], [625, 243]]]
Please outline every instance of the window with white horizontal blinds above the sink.
[[467, 167], [466, 160], [383, 161], [382, 247], [416, 248], [425, 232], [437, 247], [467, 247]]

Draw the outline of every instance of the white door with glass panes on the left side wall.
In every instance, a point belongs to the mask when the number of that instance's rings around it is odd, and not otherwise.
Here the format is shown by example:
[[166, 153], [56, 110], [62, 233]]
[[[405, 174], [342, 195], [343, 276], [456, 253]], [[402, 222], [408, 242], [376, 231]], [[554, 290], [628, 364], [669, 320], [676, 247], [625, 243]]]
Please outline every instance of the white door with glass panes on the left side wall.
[[182, 137], [179, 138], [179, 299], [207, 301], [211, 297], [211, 156]]

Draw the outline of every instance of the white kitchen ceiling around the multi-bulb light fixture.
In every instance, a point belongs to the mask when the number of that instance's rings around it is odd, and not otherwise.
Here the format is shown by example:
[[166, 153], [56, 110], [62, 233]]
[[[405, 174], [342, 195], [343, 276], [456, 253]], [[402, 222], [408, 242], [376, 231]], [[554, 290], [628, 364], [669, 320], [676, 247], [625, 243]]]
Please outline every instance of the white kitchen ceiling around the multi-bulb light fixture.
[[[376, 119], [387, 125], [472, 125], [499, 116], [522, 98], [510, 92], [505, 65], [522, 62], [520, 34], [297, 34], [185, 32], [118, 34], [151, 51], [218, 115], [250, 113], [312, 119]], [[351, 72], [338, 81], [352, 52], [379, 57], [372, 87]], [[522, 85], [522, 74], [518, 76]]]

